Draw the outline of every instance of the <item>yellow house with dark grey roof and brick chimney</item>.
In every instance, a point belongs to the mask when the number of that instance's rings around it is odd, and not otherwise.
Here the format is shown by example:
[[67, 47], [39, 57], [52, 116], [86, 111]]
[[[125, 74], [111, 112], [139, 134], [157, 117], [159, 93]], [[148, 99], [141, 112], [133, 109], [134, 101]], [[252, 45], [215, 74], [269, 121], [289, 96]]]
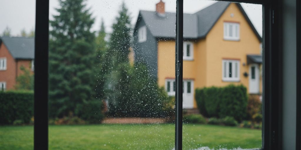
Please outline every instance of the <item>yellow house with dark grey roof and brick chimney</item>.
[[[140, 11], [134, 29], [135, 61], [175, 94], [175, 13]], [[183, 20], [183, 108], [196, 108], [196, 88], [243, 84], [261, 94], [261, 37], [239, 3], [216, 2]]]

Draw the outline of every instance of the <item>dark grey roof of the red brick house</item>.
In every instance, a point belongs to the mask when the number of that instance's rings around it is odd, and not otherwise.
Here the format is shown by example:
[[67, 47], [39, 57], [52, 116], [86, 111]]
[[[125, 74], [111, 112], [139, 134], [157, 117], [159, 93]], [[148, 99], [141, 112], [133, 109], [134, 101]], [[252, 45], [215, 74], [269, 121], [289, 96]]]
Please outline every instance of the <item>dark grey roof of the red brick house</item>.
[[0, 40], [15, 59], [34, 59], [34, 38], [4, 36], [0, 37]]

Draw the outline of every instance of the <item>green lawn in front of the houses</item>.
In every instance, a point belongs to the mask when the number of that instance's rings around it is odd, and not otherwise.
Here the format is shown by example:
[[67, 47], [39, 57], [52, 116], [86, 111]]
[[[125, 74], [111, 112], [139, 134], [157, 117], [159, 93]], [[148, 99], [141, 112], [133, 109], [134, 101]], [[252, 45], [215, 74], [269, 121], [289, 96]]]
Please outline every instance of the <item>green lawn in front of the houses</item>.
[[[49, 149], [171, 150], [173, 124], [49, 126]], [[214, 125], [184, 125], [184, 149], [259, 148], [261, 130]], [[1, 150], [32, 150], [33, 126], [0, 126]]]

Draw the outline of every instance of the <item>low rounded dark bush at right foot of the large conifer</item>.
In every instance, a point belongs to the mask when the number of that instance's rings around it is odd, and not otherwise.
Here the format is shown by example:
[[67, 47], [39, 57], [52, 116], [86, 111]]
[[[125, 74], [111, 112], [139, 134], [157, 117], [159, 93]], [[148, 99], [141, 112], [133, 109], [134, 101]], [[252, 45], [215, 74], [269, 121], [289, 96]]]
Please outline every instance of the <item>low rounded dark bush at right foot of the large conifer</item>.
[[104, 119], [103, 107], [104, 104], [100, 100], [87, 101], [77, 105], [75, 115], [88, 123], [101, 123], [102, 119]]

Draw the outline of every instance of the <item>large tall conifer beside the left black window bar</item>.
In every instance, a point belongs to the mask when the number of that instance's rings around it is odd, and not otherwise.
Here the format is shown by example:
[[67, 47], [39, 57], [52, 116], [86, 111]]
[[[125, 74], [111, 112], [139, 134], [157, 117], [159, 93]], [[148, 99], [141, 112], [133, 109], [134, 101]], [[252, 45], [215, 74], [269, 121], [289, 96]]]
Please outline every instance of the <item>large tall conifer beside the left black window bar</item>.
[[50, 20], [49, 115], [68, 116], [77, 105], [95, 99], [97, 57], [94, 18], [83, 0], [60, 0]]

